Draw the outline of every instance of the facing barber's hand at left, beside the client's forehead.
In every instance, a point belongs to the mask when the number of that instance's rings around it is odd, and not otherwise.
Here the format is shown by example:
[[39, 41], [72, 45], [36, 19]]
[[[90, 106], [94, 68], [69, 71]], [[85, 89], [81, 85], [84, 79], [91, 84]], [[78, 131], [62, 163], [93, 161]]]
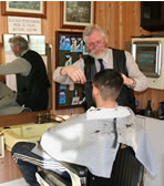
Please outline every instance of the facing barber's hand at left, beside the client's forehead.
[[86, 82], [86, 78], [83, 71], [74, 65], [68, 65], [62, 68], [61, 74], [69, 75], [74, 83], [84, 84]]

